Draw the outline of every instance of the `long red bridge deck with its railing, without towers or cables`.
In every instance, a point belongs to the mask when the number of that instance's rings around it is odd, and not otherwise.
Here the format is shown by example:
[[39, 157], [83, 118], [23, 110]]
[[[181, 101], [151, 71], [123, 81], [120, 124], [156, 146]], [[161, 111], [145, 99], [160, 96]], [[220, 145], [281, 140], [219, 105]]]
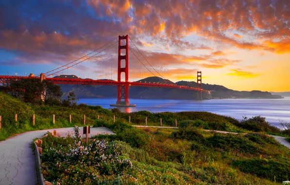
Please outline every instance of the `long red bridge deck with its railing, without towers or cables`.
[[[9, 82], [10, 79], [29, 78], [27, 76], [4, 76], [0, 75], [0, 84], [4, 85]], [[34, 77], [40, 78], [40, 77]], [[173, 89], [185, 89], [198, 92], [208, 92], [203, 89], [198, 89], [188, 86], [179, 86], [175, 84], [161, 84], [161, 83], [141, 83], [141, 82], [118, 82], [114, 80], [92, 80], [92, 79], [72, 79], [72, 78], [46, 78], [46, 80], [54, 82], [54, 84], [80, 84], [80, 85], [121, 85], [124, 86], [129, 83], [129, 86], [141, 86], [141, 87], [161, 87], [161, 88], [173, 88]]]

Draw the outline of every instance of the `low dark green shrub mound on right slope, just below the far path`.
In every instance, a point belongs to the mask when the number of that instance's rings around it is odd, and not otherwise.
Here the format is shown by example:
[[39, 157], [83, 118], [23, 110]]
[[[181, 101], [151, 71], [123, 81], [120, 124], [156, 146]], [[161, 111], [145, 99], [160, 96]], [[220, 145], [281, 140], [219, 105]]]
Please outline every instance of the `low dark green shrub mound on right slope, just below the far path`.
[[237, 149], [244, 153], [263, 153], [263, 148], [259, 145], [237, 134], [222, 135], [215, 133], [206, 139], [206, 143], [214, 148], [222, 148], [225, 150]]

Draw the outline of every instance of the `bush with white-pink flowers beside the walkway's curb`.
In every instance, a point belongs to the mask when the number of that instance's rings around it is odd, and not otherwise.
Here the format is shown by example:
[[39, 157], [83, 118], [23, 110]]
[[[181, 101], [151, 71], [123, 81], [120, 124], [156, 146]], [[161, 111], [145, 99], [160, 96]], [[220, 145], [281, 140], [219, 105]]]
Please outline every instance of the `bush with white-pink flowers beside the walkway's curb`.
[[[77, 131], [77, 129], [75, 128]], [[82, 184], [86, 181], [92, 183], [102, 176], [118, 175], [131, 169], [129, 159], [120, 159], [120, 152], [115, 142], [108, 143], [105, 140], [91, 142], [82, 145], [81, 141], [74, 140], [75, 144], [58, 146], [54, 148], [54, 137], [47, 137], [43, 148], [41, 160], [43, 163], [43, 175], [46, 180], [60, 184]], [[61, 141], [60, 141], [61, 142]], [[86, 184], [86, 183], [85, 183]]]

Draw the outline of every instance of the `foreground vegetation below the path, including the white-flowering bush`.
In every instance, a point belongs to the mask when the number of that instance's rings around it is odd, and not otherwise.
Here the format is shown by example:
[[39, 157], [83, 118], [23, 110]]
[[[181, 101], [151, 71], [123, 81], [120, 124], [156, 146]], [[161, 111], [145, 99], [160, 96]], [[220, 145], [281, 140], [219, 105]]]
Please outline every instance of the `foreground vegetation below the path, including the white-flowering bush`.
[[[44, 138], [45, 179], [54, 184], [274, 185], [290, 178], [290, 150], [264, 134], [141, 129], [121, 120], [96, 120], [94, 127], [102, 125], [115, 135], [93, 136], [88, 145], [72, 136]], [[116, 160], [108, 163], [112, 152]], [[101, 167], [90, 164], [96, 159]], [[116, 161], [123, 166], [112, 168]]]

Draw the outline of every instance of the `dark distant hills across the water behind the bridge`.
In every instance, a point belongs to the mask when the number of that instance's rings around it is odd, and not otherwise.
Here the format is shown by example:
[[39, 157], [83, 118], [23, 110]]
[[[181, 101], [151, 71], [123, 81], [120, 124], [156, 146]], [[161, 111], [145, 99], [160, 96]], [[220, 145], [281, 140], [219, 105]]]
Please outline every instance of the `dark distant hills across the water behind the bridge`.
[[[76, 75], [59, 75], [54, 77], [63, 78], [79, 78]], [[106, 79], [111, 80], [111, 79]], [[196, 82], [179, 81], [172, 82], [167, 79], [160, 77], [147, 77], [140, 79], [136, 82], [142, 83], [164, 83], [164, 84], [176, 84], [176, 85], [187, 85], [191, 87], [197, 87]], [[117, 87], [116, 86], [92, 86], [92, 85], [68, 85], [61, 84], [61, 89], [64, 92], [64, 97], [67, 93], [72, 91], [78, 97], [116, 97]], [[221, 85], [211, 85], [202, 83], [202, 89], [213, 91], [213, 98], [282, 98], [279, 95], [272, 95], [270, 92], [261, 91], [235, 91], [228, 89]], [[150, 98], [150, 99], [196, 99], [198, 92], [180, 90], [180, 89], [169, 89], [169, 88], [158, 88], [158, 87], [129, 87], [130, 98]], [[208, 98], [205, 96], [203, 98]]]

